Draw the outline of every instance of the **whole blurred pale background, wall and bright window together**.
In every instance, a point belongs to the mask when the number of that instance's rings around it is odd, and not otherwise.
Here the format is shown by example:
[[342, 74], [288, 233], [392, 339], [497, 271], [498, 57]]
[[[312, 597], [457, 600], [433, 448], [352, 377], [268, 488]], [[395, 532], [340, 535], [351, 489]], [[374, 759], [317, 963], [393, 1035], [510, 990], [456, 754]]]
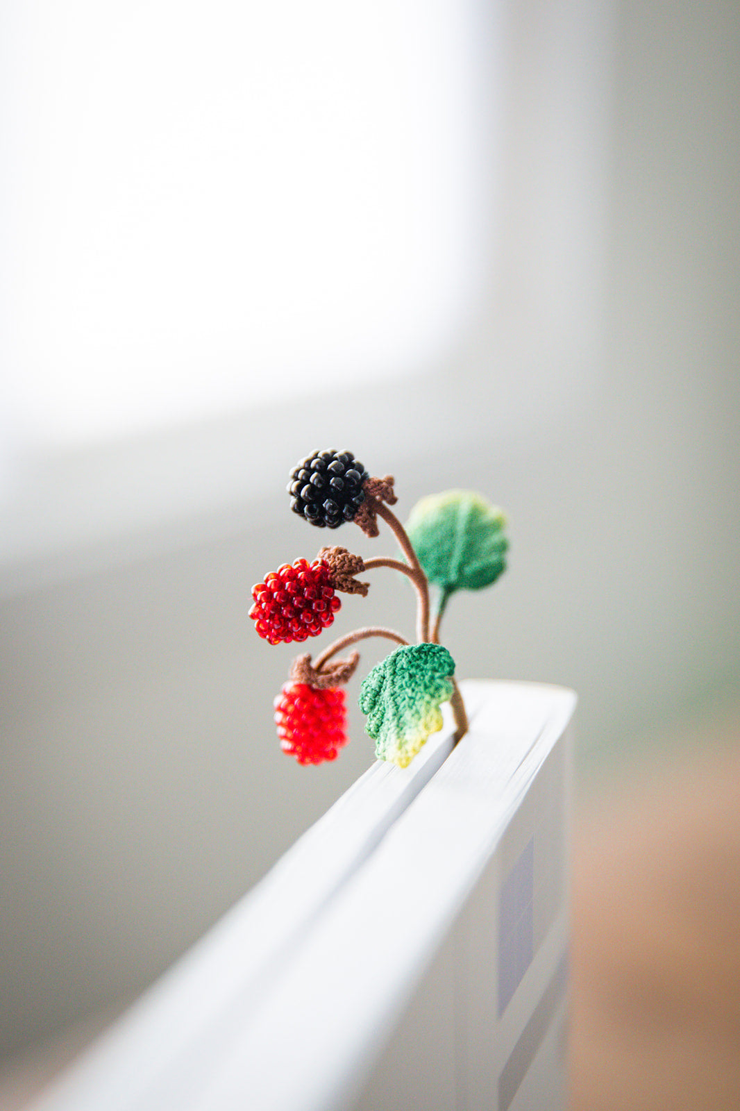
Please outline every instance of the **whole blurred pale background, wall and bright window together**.
[[[278, 750], [247, 618], [350, 447], [510, 518], [458, 673], [579, 777], [740, 701], [737, 6], [2, 11], [2, 1051], [140, 990], [371, 762]], [[393, 554], [348, 527], [337, 542]], [[334, 629], [412, 628], [374, 573]], [[379, 652], [382, 650], [379, 650]], [[379, 653], [363, 653], [369, 668]]]

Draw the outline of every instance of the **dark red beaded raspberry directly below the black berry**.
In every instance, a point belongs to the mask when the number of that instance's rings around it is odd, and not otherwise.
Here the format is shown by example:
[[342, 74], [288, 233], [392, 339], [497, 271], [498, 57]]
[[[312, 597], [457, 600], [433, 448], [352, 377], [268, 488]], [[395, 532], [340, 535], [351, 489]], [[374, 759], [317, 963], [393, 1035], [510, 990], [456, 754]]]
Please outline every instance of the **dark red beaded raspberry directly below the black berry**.
[[310, 567], [304, 559], [283, 563], [252, 587], [252, 598], [249, 615], [259, 635], [271, 644], [318, 637], [342, 604], [334, 593], [331, 569], [322, 559]]

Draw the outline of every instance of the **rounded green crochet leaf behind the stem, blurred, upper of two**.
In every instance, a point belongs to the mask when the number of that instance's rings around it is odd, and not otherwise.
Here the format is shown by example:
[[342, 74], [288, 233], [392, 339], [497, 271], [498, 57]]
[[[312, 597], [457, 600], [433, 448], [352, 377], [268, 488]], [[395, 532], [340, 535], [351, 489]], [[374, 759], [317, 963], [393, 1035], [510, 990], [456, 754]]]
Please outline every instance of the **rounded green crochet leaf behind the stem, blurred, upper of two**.
[[418, 501], [406, 529], [429, 581], [451, 594], [488, 587], [506, 570], [504, 526], [480, 494], [448, 490]]

